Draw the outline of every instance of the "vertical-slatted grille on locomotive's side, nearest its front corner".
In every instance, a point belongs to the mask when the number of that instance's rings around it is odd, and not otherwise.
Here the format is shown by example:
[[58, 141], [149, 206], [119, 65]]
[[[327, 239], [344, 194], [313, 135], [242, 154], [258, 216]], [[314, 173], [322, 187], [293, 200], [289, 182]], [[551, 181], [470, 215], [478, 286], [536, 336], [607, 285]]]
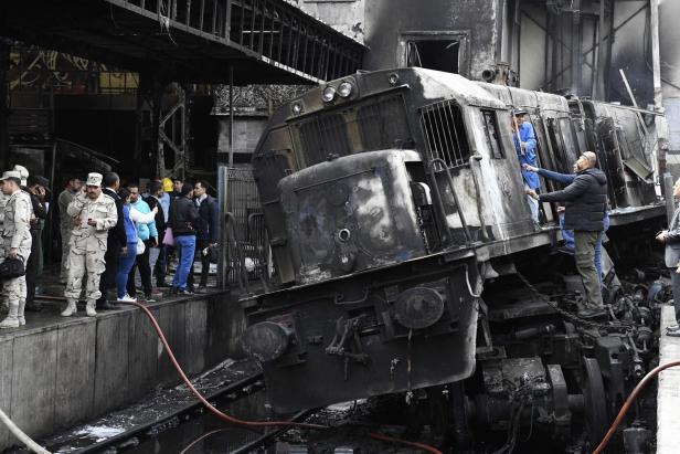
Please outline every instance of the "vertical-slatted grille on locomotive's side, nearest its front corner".
[[443, 159], [449, 167], [467, 165], [470, 148], [463, 113], [456, 103], [443, 101], [423, 107], [421, 127], [432, 159]]

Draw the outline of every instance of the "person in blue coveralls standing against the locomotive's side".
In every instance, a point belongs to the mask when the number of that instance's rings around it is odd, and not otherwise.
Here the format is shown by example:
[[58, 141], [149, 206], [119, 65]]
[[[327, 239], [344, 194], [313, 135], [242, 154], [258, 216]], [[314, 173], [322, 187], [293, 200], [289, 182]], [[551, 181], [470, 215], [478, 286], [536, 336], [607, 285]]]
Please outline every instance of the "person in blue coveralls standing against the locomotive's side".
[[[533, 125], [527, 118], [527, 110], [523, 108], [512, 110], [512, 122], [510, 123], [512, 129], [512, 139], [514, 140], [514, 150], [517, 157], [520, 160], [522, 179], [524, 180], [524, 189], [538, 192], [541, 187], [539, 176], [535, 172], [531, 172], [524, 169], [524, 165], [536, 167], [536, 137], [533, 131]], [[539, 223], [539, 202], [532, 197], [527, 196], [529, 209], [531, 210], [531, 218], [533, 222]]]

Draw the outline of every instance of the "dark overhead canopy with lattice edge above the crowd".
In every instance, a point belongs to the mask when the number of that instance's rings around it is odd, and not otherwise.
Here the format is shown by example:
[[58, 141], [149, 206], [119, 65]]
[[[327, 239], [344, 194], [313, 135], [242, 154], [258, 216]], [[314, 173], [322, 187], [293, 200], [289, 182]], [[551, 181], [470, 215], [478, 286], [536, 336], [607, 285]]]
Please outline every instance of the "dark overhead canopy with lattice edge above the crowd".
[[166, 81], [318, 83], [355, 72], [365, 47], [285, 0], [0, 2], [0, 36]]

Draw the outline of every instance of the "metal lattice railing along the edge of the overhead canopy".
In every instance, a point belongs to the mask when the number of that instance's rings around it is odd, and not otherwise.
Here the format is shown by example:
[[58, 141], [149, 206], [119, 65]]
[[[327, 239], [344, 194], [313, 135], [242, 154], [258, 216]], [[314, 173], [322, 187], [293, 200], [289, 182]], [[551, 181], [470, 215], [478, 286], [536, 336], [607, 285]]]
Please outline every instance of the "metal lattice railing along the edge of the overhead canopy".
[[327, 81], [355, 72], [363, 46], [283, 0], [107, 0], [161, 29], [199, 34]]

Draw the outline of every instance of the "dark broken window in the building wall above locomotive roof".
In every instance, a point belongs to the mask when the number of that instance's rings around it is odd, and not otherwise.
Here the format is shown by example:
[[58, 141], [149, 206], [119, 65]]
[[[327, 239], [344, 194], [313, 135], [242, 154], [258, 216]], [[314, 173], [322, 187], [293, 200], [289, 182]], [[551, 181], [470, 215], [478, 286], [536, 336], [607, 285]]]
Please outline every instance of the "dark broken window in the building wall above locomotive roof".
[[406, 42], [406, 66], [458, 73], [460, 41], [413, 39]]

